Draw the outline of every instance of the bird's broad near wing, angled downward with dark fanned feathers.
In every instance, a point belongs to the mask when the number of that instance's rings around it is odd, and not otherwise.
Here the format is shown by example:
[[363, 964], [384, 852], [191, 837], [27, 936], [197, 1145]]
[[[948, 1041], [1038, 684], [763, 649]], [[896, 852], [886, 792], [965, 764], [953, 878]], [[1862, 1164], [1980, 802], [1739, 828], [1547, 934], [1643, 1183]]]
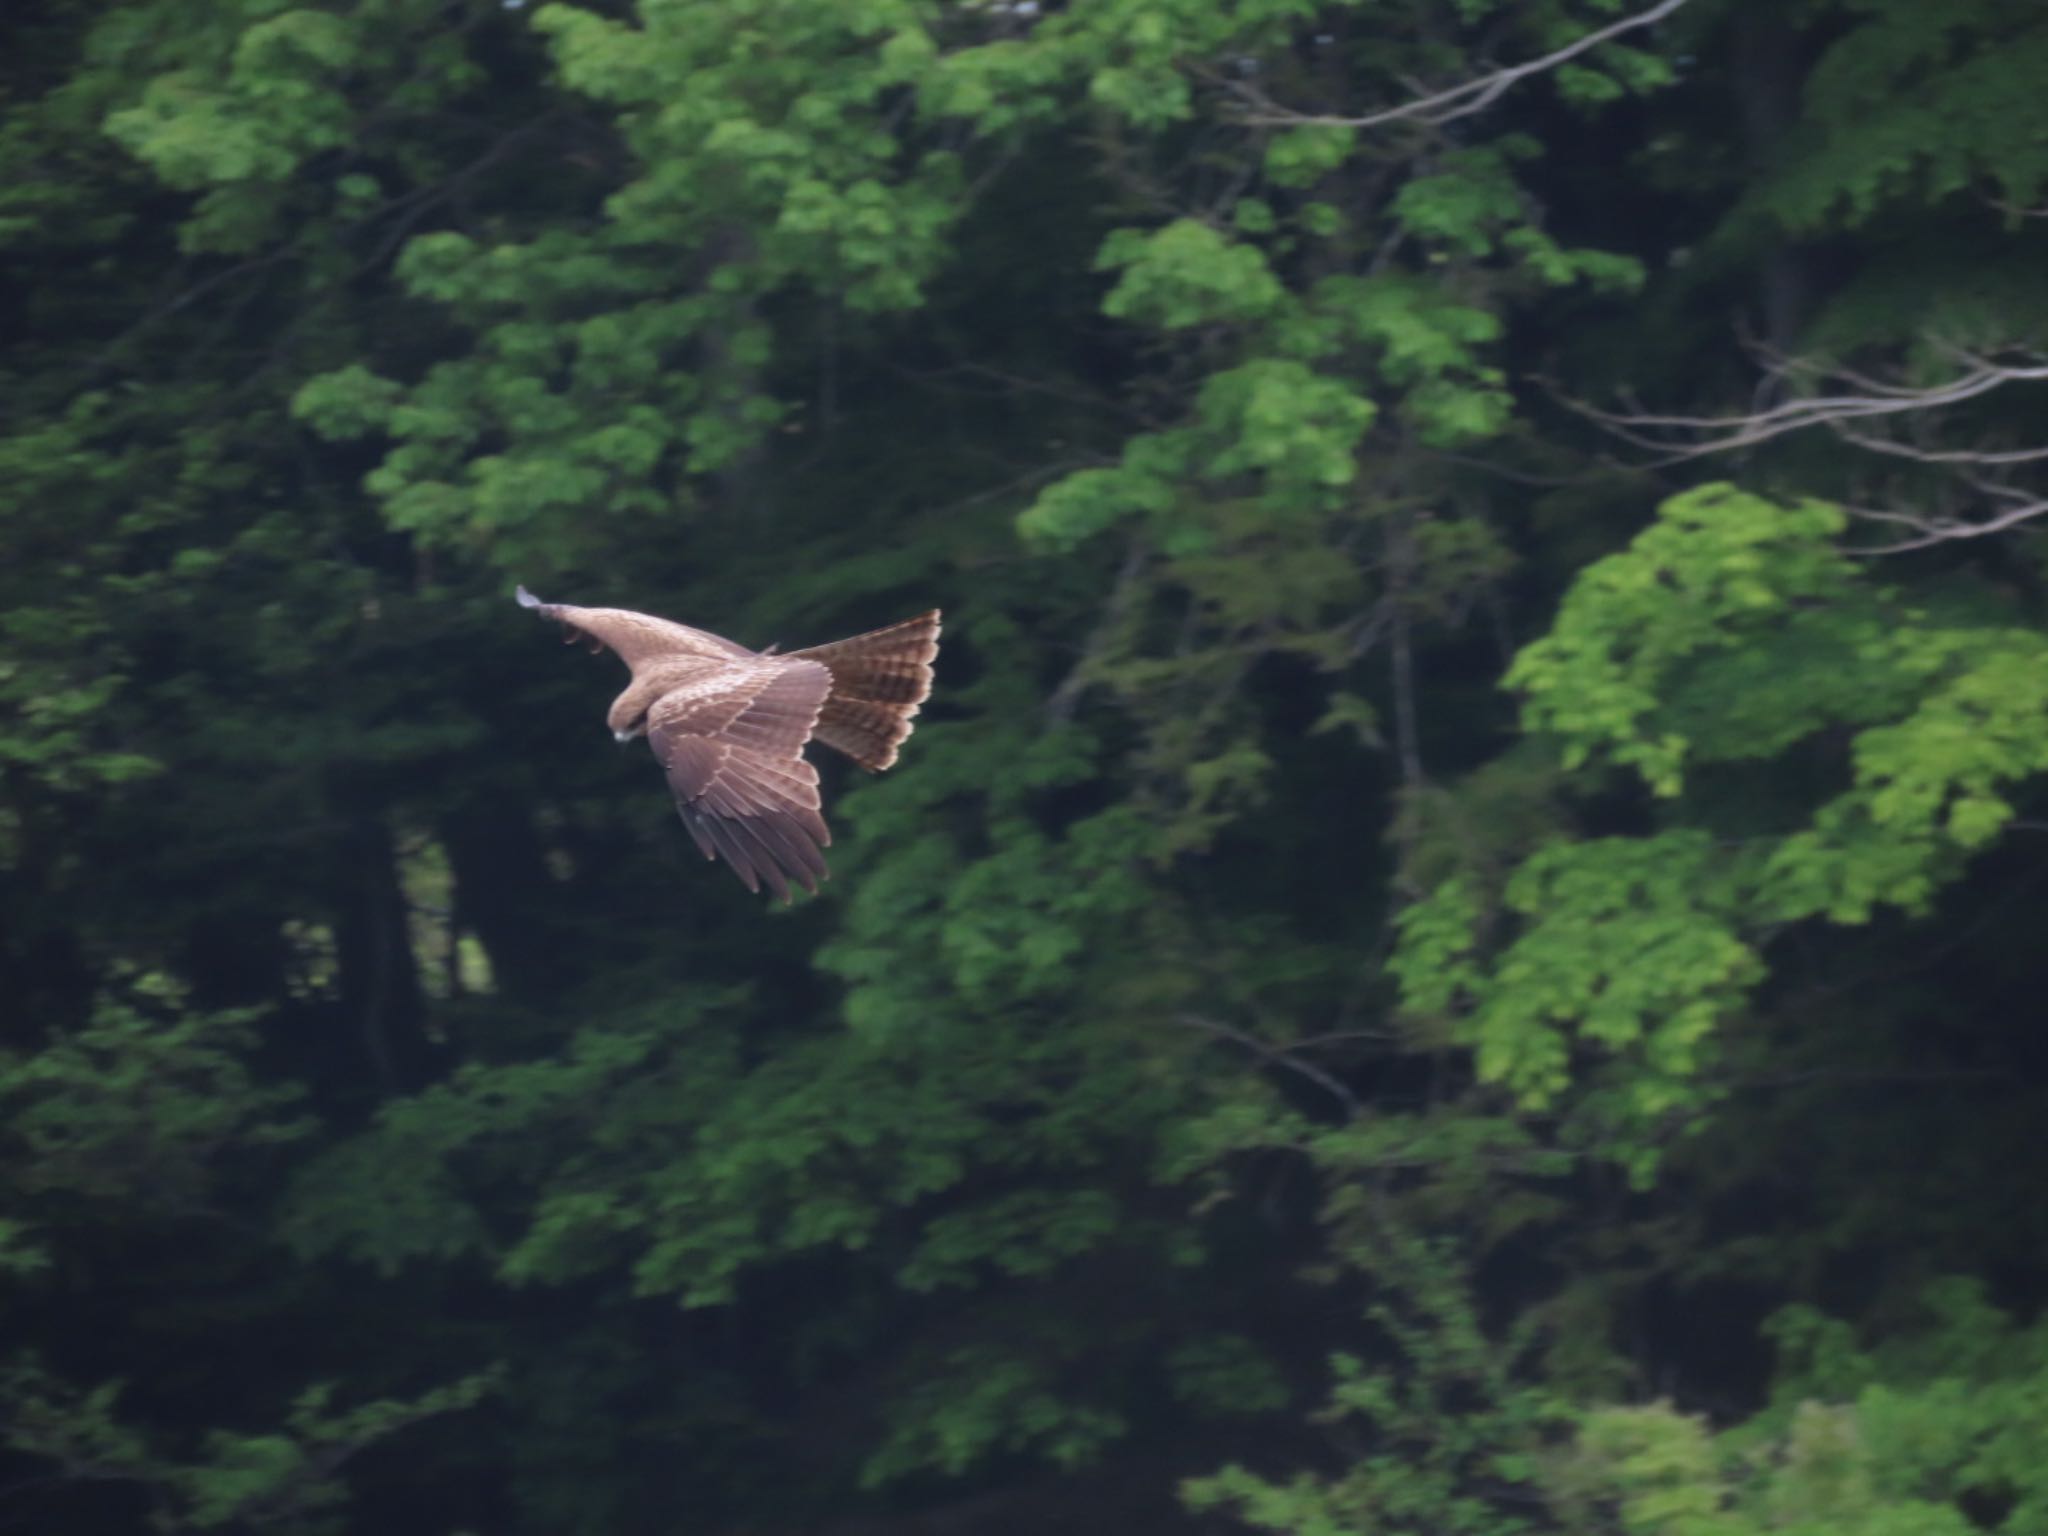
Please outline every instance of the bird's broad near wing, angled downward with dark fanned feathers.
[[723, 856], [750, 891], [788, 899], [788, 881], [817, 891], [821, 848], [817, 768], [803, 758], [831, 692], [819, 662], [750, 657], [664, 694], [647, 741], [668, 770], [676, 809], [705, 858]]

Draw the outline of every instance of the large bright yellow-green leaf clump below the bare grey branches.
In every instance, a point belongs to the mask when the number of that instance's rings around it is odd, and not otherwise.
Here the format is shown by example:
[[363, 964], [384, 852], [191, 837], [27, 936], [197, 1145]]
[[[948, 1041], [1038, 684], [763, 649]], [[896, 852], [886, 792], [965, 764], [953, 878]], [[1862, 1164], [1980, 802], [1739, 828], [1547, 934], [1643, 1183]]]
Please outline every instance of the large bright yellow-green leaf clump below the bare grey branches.
[[[1638, 1180], [1712, 1096], [1718, 1026], [1784, 924], [1925, 909], [2048, 770], [2042, 639], [1913, 608], [1829, 537], [1841, 514], [1710, 485], [1589, 565], [1507, 672], [1567, 770], [1632, 770], [1675, 801], [1688, 764], [1772, 758], [1849, 729], [1847, 786], [1790, 825], [1675, 825], [1534, 848], [1497, 889], [1450, 879], [1401, 913], [1407, 1006], [1450, 1016], [1483, 1079], [1550, 1108], [1593, 1061], [1585, 1130]], [[1948, 623], [1944, 623], [1948, 618]], [[1972, 623], [1974, 621], [1974, 623]], [[1679, 807], [1679, 815], [1683, 807]]]

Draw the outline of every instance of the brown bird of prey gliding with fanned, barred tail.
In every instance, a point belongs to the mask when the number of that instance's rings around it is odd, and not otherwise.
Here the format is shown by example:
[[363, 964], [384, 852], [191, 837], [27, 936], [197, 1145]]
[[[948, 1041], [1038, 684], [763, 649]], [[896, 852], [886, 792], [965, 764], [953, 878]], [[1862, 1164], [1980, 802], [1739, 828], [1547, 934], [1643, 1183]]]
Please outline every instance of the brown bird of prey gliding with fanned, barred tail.
[[831, 831], [819, 813], [809, 741], [862, 768], [895, 762], [932, 692], [938, 610], [866, 635], [776, 655], [629, 608], [518, 604], [563, 627], [567, 643], [606, 645], [633, 672], [606, 723], [621, 741], [647, 737], [668, 772], [682, 825], [705, 858], [723, 858], [784, 901], [788, 883], [817, 891]]

